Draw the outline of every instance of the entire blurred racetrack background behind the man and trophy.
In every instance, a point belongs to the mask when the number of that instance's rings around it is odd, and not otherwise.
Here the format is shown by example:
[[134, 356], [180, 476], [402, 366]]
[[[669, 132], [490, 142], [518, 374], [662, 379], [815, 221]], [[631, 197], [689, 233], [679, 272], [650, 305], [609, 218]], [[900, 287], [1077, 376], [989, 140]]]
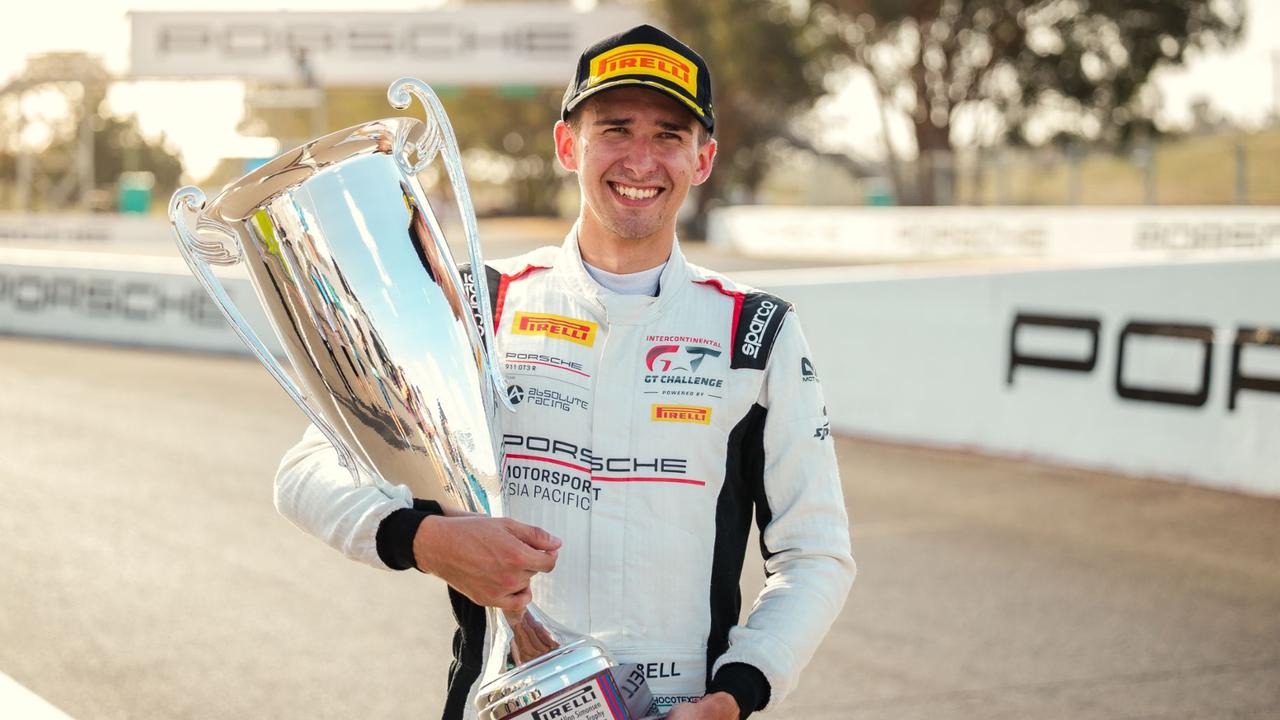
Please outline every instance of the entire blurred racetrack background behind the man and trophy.
[[714, 77], [684, 251], [796, 302], [837, 437], [860, 577], [768, 716], [1280, 716], [1280, 5], [4, 14], [0, 717], [436, 716], [443, 589], [275, 515], [302, 415], [166, 204], [397, 114], [413, 76], [486, 256], [559, 242], [564, 83], [639, 22]]

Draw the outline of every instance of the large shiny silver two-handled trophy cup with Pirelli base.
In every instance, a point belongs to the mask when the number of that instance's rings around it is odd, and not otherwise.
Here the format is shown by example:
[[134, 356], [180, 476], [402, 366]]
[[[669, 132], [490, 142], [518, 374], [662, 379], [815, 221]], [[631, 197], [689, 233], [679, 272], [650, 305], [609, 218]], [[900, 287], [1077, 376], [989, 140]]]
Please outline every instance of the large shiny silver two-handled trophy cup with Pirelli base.
[[[507, 395], [494, 343], [484, 341], [493, 316], [457, 141], [426, 83], [402, 78], [387, 96], [401, 110], [417, 97], [425, 122], [381, 119], [326, 135], [211, 202], [184, 187], [169, 219], [192, 273], [329, 438], [353, 483], [404, 484], [448, 511], [500, 516], [497, 420]], [[470, 287], [419, 182], [436, 159], [476, 269]], [[237, 263], [248, 270], [292, 377], [211, 272]], [[480, 720], [631, 720], [652, 711], [643, 678], [623, 678], [598, 641], [532, 605], [518, 616], [488, 609], [486, 629]]]

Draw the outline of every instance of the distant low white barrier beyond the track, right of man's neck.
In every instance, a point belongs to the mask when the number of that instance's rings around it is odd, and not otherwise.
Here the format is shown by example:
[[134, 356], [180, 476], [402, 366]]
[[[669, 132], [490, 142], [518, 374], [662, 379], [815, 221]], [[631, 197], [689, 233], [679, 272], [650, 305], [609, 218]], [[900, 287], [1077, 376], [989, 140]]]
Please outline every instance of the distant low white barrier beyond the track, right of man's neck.
[[721, 208], [713, 245], [759, 258], [919, 260], [972, 256], [1280, 251], [1280, 208]]

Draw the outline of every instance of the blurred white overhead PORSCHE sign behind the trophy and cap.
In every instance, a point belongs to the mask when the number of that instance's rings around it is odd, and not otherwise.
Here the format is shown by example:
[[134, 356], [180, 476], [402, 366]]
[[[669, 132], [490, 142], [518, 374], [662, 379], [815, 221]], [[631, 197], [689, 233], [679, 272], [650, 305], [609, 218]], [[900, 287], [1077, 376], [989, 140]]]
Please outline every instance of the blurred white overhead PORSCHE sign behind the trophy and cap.
[[[131, 13], [138, 78], [321, 86], [562, 85], [582, 47], [644, 22], [634, 10], [467, 5], [385, 13]], [[306, 72], [302, 77], [302, 58]]]

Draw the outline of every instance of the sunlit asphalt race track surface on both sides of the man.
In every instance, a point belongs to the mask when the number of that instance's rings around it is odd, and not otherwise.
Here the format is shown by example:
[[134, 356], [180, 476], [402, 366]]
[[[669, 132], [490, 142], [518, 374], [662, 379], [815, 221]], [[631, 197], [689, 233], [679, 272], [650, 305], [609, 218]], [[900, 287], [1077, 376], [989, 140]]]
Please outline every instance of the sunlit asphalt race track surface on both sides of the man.
[[[438, 717], [443, 587], [271, 506], [302, 425], [247, 359], [0, 338], [0, 673], [78, 719]], [[1280, 716], [1280, 502], [838, 448], [858, 583], [764, 717]]]

